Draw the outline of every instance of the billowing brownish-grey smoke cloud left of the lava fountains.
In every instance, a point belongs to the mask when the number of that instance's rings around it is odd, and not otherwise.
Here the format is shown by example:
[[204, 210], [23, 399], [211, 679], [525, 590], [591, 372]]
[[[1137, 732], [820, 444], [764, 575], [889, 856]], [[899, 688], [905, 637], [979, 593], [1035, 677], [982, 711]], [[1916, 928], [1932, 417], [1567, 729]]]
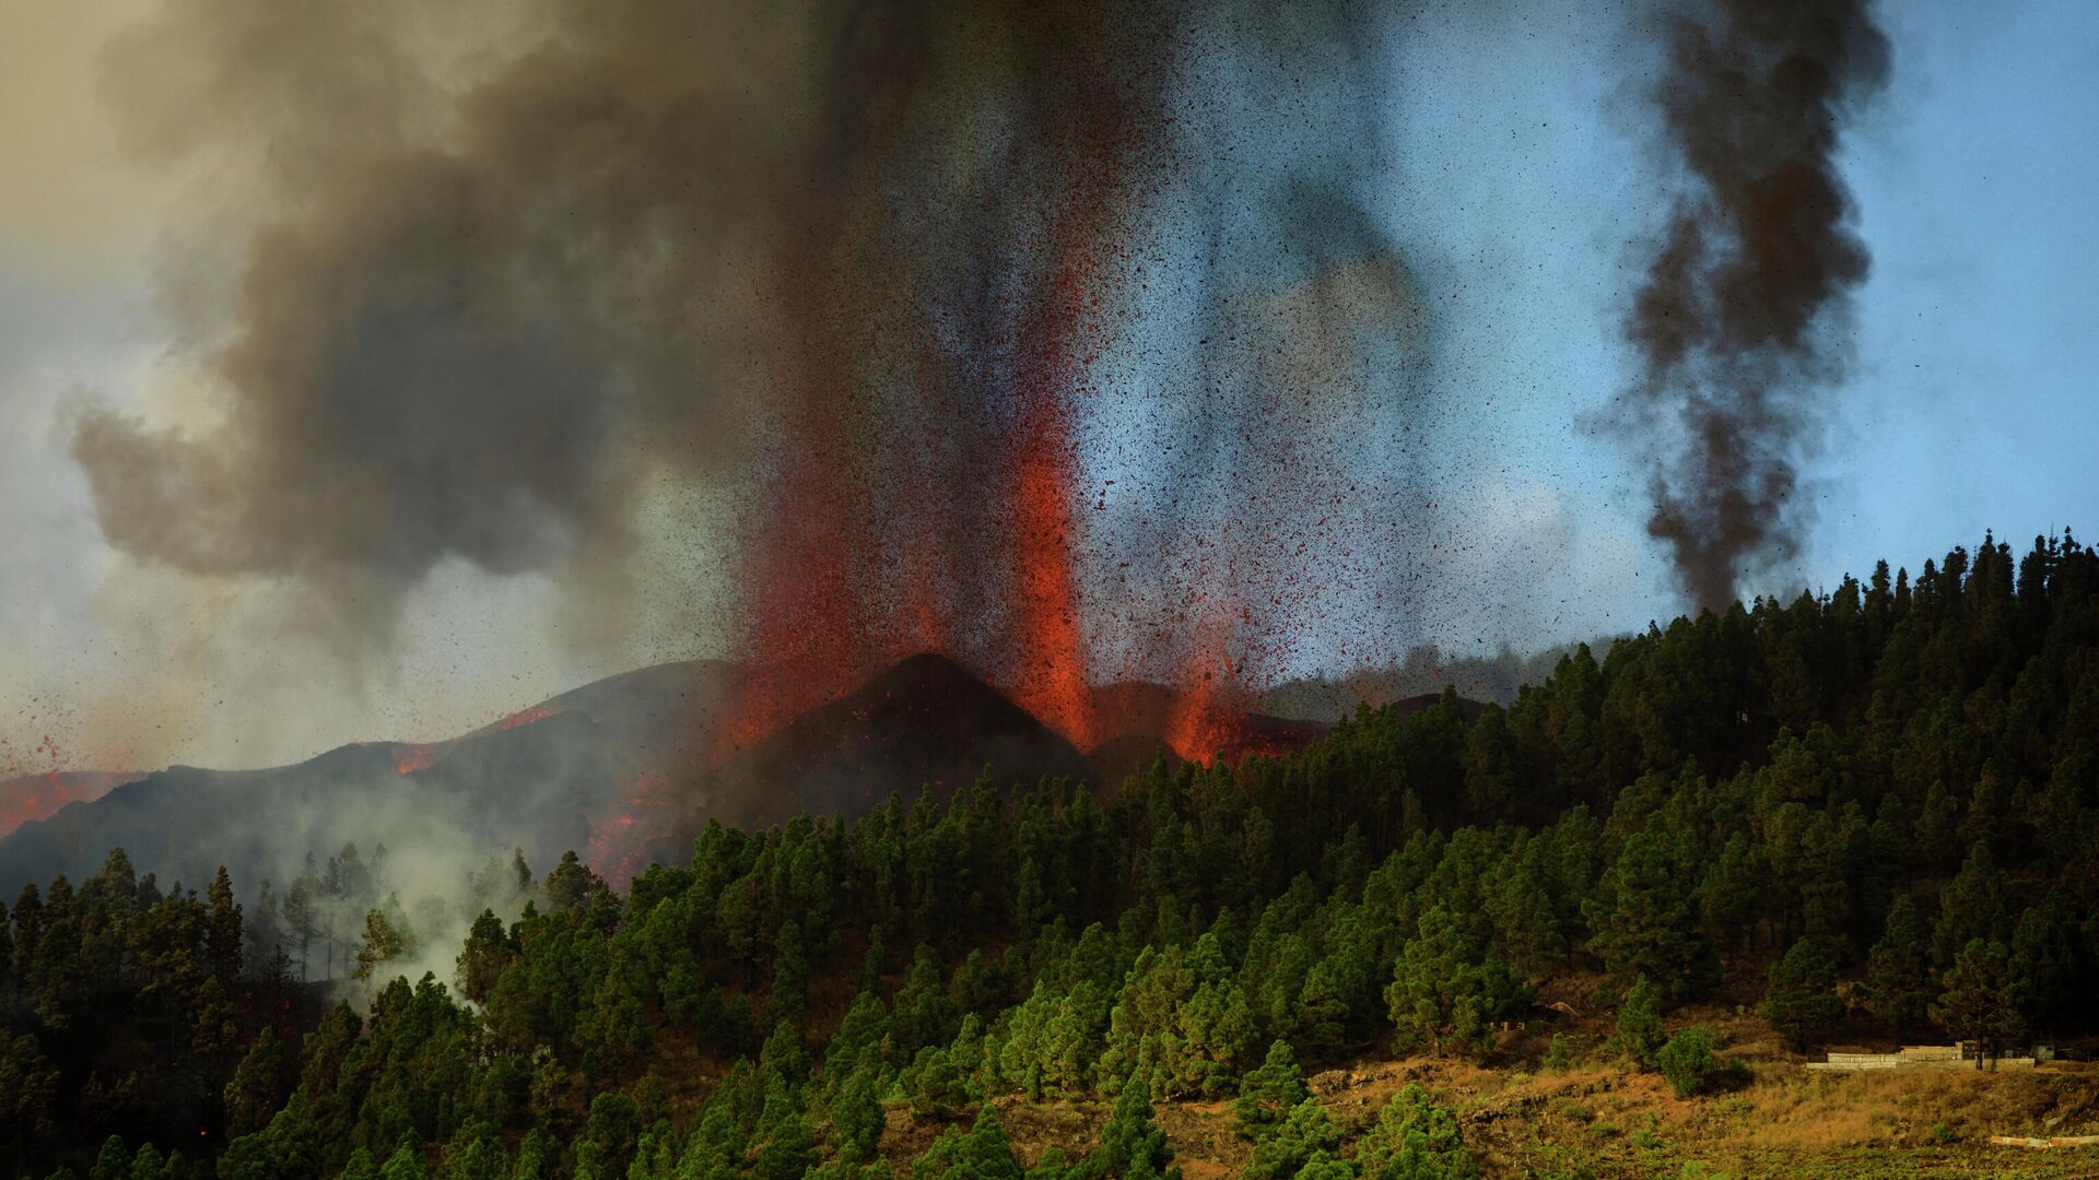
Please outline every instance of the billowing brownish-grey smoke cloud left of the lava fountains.
[[294, 580], [359, 632], [445, 559], [602, 584], [653, 470], [722, 470], [760, 344], [751, 218], [796, 143], [770, 4], [552, 4], [462, 90], [481, 55], [439, 73], [420, 13], [168, 4], [113, 48], [145, 149], [260, 147], [237, 214], [260, 229], [231, 283], [172, 292], [225, 302], [183, 311], [212, 420], [73, 435], [118, 548]]

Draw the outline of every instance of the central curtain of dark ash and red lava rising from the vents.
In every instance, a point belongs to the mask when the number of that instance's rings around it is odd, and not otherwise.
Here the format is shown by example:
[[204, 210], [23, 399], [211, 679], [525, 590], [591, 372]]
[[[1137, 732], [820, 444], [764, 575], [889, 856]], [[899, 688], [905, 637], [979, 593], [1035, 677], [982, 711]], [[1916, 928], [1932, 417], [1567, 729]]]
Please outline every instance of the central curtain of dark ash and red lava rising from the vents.
[[[1390, 361], [1419, 311], [1352, 191], [1387, 8], [930, 0], [848, 25], [798, 286], [793, 508], [754, 544], [758, 714], [930, 647], [1087, 745], [1089, 676], [1186, 676], [1220, 630], [1314, 596], [1287, 580], [1331, 554], [1301, 533], [1387, 506], [1333, 498], [1402, 365], [1320, 378]], [[1138, 412], [1163, 424], [1148, 483], [1081, 487], [1081, 437], [1129, 445], [1098, 420]], [[1362, 565], [1392, 552], [1362, 540]]]

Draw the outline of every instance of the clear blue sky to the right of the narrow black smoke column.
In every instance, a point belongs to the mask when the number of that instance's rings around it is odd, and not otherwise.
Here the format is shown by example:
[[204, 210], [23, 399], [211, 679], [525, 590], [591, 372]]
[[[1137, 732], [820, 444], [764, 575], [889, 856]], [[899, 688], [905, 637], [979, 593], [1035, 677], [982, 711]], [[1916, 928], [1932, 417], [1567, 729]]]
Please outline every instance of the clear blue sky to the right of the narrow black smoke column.
[[1845, 172], [1874, 254], [1811, 573], [2099, 540], [2099, 6], [1891, 4]]

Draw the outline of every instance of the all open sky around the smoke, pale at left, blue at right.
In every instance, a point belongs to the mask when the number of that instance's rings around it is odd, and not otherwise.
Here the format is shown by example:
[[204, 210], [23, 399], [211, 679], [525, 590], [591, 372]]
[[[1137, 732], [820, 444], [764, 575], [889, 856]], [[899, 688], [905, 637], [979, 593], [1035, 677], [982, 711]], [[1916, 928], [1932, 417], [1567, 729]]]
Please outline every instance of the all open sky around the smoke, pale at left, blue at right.
[[[36, 762], [25, 733], [206, 764], [434, 737], [691, 653], [676, 609], [623, 647], [579, 647], [548, 582], [458, 565], [411, 600], [397, 659], [298, 661], [288, 678], [269, 588], [136, 569], [103, 544], [65, 458], [67, 409], [199, 401], [166, 372], [149, 311], [164, 235], [199, 231], [172, 212], [195, 178], [134, 170], [97, 105], [94, 46], [139, 2], [0, 6], [0, 157], [19, 164], [0, 172], [0, 771]], [[1914, 0], [1881, 17], [1893, 80], [1843, 149], [1872, 250], [1851, 378], [1807, 466], [1801, 563], [1751, 590], [1826, 588], [1881, 556], [1914, 567], [1984, 529], [2099, 540], [2099, 4]], [[1415, 422], [1434, 445], [1408, 460], [1438, 506], [1406, 636], [1528, 647], [1675, 613], [1641, 533], [1644, 477], [1583, 426], [1629, 372], [1616, 323], [1660, 214], [1639, 109], [1652, 46], [1623, 10], [1539, 2], [1411, 21], [1381, 50], [1390, 109], [1354, 187], [1434, 311], [1440, 405]], [[1125, 380], [1173, 363], [1138, 361]], [[1091, 422], [1098, 479], [1144, 462], [1150, 409], [1121, 405], [1127, 420]], [[1337, 634], [1295, 655], [1322, 661]], [[176, 661], [168, 701], [141, 703], [141, 670]]]

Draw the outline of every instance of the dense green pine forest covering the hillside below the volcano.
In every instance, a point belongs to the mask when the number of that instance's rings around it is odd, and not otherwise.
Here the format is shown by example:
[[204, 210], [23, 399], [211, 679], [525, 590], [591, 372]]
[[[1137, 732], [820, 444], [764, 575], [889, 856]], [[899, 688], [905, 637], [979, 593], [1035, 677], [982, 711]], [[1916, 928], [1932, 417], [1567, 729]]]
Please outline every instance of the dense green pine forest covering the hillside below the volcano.
[[[0, 926], [0, 1151], [97, 1180], [1133, 1178], [1175, 1172], [1152, 1102], [1234, 1098], [1249, 1176], [1467, 1176], [1425, 1094], [1354, 1125], [1299, 1062], [1492, 1056], [1564, 978], [1679, 1094], [1738, 1067], [1669, 1012], [1746, 974], [1797, 1046], [2089, 1029], [2095, 739], [2099, 556], [1986, 538], [1285, 758], [714, 825], [623, 894], [573, 855], [495, 863], [445, 978], [380, 983], [432, 924], [346, 884], [351, 850], [246, 918], [222, 876], [162, 894], [115, 852]], [[317, 897], [355, 936], [317, 943]], [[1016, 1098], [1104, 1123], [1026, 1170]], [[905, 1113], [947, 1130], [884, 1163]]]

